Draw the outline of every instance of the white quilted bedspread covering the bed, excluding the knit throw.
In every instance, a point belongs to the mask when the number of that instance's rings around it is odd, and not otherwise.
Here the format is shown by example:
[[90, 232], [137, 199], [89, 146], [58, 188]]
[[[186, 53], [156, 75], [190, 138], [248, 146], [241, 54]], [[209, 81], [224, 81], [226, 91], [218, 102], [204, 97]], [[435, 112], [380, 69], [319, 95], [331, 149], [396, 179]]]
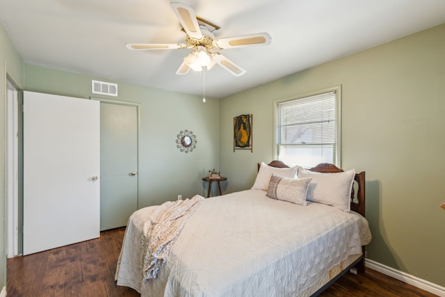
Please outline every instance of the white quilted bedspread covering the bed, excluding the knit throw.
[[140, 232], [154, 209], [129, 219], [115, 275], [141, 296], [306, 296], [321, 274], [371, 241], [367, 221], [353, 211], [241, 191], [204, 200], [158, 278], [143, 280]]

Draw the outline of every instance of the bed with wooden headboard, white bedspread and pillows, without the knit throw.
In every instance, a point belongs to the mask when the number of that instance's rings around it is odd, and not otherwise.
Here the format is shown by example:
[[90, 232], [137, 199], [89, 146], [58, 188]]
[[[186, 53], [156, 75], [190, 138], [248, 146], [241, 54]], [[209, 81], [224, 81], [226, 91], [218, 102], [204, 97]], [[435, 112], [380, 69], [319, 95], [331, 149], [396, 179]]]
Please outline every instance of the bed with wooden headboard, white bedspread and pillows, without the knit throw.
[[115, 280], [143, 297], [316, 296], [350, 268], [364, 271], [364, 177], [327, 163], [261, 162], [249, 190], [203, 199], [152, 279], [141, 271], [141, 234], [159, 206], [139, 209]]

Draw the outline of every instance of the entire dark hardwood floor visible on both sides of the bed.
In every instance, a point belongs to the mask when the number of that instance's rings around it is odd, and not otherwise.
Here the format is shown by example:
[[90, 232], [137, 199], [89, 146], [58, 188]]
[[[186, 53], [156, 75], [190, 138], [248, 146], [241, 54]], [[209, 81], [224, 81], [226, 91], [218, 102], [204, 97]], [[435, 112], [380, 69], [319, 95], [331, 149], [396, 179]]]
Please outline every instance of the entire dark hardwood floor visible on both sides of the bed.
[[[99, 239], [7, 260], [8, 297], [139, 296], [114, 281], [124, 228]], [[320, 296], [435, 296], [369, 268], [346, 273]]]

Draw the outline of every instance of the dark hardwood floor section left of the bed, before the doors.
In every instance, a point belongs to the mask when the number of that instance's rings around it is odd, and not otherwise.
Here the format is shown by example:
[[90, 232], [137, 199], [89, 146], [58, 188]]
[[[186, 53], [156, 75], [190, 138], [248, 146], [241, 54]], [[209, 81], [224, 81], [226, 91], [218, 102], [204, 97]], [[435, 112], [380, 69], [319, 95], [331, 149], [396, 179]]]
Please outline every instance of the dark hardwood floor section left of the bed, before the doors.
[[8, 259], [8, 297], [139, 296], [114, 281], [124, 231], [108, 230], [99, 239]]

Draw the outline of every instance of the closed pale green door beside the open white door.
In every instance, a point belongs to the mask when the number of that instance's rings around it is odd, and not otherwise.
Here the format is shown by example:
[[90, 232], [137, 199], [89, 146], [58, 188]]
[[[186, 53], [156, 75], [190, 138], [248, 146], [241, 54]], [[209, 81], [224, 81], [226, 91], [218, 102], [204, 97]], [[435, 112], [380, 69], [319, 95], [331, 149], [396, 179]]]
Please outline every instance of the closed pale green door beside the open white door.
[[100, 99], [100, 230], [127, 225], [138, 209], [139, 106]]

